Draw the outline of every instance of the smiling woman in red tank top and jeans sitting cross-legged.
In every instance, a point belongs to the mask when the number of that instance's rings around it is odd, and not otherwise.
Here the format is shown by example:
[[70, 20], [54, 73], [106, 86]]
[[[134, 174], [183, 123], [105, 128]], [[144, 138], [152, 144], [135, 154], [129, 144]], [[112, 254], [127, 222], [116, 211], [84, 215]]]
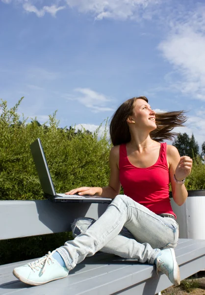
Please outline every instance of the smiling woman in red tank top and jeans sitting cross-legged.
[[[185, 120], [183, 112], [155, 114], [144, 96], [123, 103], [110, 124], [109, 185], [67, 192], [114, 200], [97, 221], [75, 222], [74, 233], [80, 236], [33, 263], [15, 268], [13, 274], [30, 285], [45, 284], [66, 277], [86, 256], [102, 250], [155, 264], [157, 271], [179, 285], [173, 249], [179, 228], [169, 201], [169, 183], [174, 201], [181, 206], [187, 198], [184, 178], [191, 172], [192, 160], [180, 157], [175, 147], [160, 141], [172, 138], [171, 130]], [[125, 195], [119, 195], [121, 184]]]

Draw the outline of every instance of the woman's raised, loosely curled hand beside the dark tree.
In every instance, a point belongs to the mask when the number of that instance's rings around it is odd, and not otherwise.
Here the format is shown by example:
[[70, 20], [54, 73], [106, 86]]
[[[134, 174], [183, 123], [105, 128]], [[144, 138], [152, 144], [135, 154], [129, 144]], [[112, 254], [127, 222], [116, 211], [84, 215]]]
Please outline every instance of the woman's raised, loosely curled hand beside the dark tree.
[[179, 164], [175, 170], [177, 180], [181, 181], [191, 173], [192, 159], [188, 156], [180, 157]]

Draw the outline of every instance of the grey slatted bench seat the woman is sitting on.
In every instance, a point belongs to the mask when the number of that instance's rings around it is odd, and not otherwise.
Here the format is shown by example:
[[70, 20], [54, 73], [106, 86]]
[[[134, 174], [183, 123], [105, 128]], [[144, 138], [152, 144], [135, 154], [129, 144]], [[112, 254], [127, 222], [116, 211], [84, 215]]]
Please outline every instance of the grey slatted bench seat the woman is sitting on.
[[[181, 280], [205, 268], [205, 240], [179, 239], [175, 252]], [[157, 276], [153, 265], [99, 252], [68, 277], [34, 287], [12, 274], [14, 267], [31, 261], [0, 266], [0, 295], [154, 295], [171, 286], [166, 275]]]

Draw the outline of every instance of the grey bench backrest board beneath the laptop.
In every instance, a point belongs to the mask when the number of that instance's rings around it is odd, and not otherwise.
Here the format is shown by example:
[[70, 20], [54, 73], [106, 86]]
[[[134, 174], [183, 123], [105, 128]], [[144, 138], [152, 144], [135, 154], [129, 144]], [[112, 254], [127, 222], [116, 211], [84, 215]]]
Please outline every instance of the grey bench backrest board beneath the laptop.
[[107, 204], [0, 201], [0, 239], [67, 232], [77, 217], [99, 218]]

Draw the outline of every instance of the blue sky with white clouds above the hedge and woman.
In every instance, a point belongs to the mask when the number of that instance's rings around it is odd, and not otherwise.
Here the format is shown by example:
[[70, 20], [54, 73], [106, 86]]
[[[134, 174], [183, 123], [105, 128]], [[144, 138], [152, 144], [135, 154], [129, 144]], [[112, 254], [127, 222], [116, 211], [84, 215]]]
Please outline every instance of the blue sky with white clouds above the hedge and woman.
[[187, 110], [205, 141], [205, 1], [0, 0], [0, 98], [94, 130], [126, 99]]

